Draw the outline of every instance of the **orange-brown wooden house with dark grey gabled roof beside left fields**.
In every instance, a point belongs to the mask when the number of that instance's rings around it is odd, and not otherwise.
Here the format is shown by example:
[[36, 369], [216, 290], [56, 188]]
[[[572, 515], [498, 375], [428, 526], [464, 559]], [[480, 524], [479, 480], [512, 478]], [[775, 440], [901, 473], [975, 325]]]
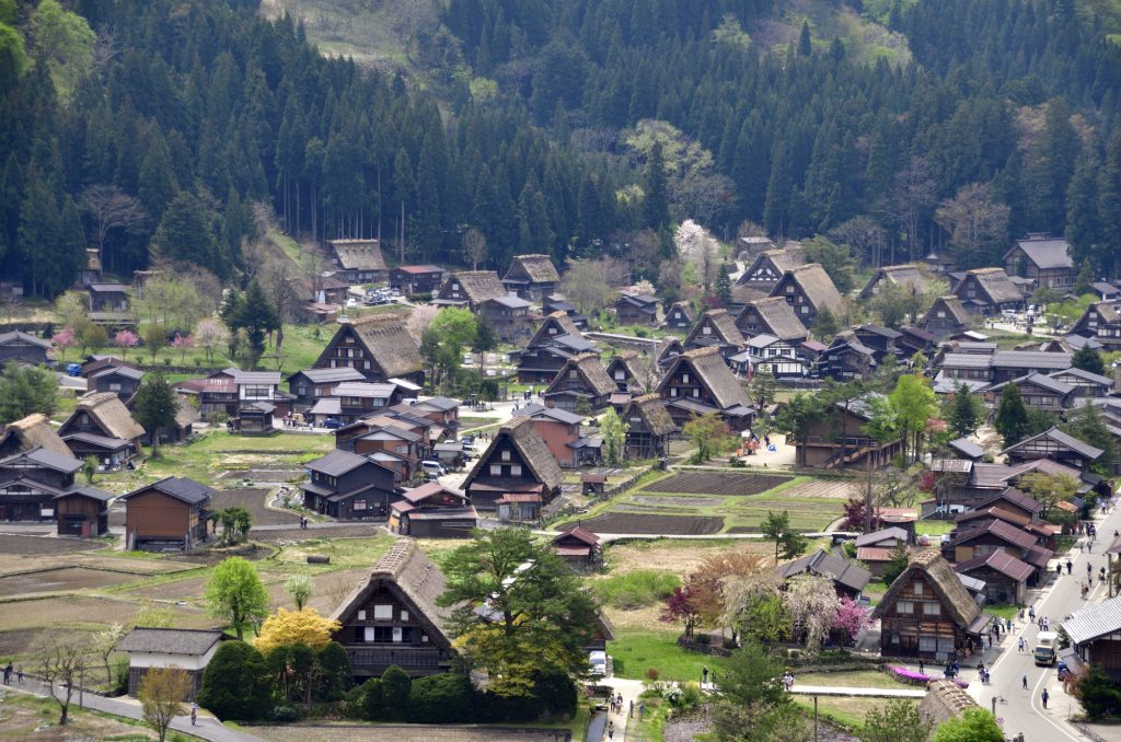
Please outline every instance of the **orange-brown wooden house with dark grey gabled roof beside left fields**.
[[194, 480], [165, 476], [121, 497], [130, 549], [193, 549], [211, 539], [213, 489]]

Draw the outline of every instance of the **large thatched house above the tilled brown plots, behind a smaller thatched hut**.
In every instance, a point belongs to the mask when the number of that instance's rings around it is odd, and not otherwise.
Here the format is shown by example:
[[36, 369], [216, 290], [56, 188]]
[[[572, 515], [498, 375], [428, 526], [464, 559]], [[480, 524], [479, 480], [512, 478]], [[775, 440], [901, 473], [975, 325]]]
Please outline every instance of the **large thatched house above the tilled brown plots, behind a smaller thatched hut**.
[[754, 419], [756, 408], [748, 392], [715, 346], [675, 358], [658, 382], [657, 392], [677, 427], [694, 416], [716, 412], [731, 430], [740, 433]]

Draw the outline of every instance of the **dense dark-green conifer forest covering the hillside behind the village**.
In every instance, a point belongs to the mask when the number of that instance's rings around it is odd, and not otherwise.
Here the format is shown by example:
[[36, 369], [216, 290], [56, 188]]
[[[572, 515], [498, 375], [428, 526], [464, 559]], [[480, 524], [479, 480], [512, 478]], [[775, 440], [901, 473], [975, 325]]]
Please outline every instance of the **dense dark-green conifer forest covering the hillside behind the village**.
[[796, 17], [773, 0], [438, 8], [399, 75], [326, 58], [256, 0], [0, 0], [4, 276], [54, 295], [89, 244], [121, 275], [238, 281], [261, 202], [302, 239], [380, 234], [409, 261], [464, 262], [476, 226], [487, 267], [605, 249], [655, 278], [692, 217], [963, 267], [1066, 231], [1114, 270], [1121, 48], [1088, 4], [849, 3], [906, 40], [859, 53], [824, 16], [776, 43]]

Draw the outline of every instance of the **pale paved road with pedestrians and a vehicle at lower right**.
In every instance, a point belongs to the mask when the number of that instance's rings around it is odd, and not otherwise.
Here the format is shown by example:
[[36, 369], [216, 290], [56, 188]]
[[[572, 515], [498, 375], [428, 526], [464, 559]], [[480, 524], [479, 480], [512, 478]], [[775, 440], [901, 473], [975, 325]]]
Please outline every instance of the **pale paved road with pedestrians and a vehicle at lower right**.
[[[1099, 519], [1097, 531], [1101, 538], [1092, 546], [1090, 553], [1084, 554], [1075, 547], [1069, 556], [1074, 564], [1072, 576], [1066, 574], [1067, 557], [1062, 557], [1063, 576], [1058, 579], [1053, 576], [1050, 585], [1044, 588], [1035, 604], [1036, 618], [1047, 616], [1050, 620], [1051, 631], [1055, 631], [1072, 611], [1106, 599], [1105, 585], [1096, 578], [1097, 571], [1105, 566], [1106, 558], [1103, 550], [1112, 540], [1115, 529], [1121, 529], [1119, 510], [1111, 512], [1104, 520]], [[1053, 562], [1053, 571], [1054, 564]], [[1083, 600], [1078, 583], [1086, 578], [1087, 564], [1093, 569], [1095, 584], [1087, 600]], [[992, 699], [997, 698], [997, 716], [1004, 720], [1004, 732], [1009, 736], [1022, 732], [1027, 742], [1085, 740], [1087, 739], [1085, 735], [1066, 723], [1069, 715], [1081, 713], [1077, 702], [1063, 690], [1063, 684], [1058, 681], [1055, 668], [1036, 667], [1031, 658], [1037, 633], [1039, 629], [1035, 623], [1026, 619], [1017, 621], [1011, 637], [1008, 637], [998, 650], [999, 657], [995, 660], [986, 660], [990, 662], [992, 685], [982, 686], [978, 683], [975, 670], [965, 675], [966, 679], [970, 679], [970, 694], [985, 708], [992, 708]], [[1020, 637], [1025, 638], [1028, 647], [1023, 653], [1017, 651]], [[1025, 675], [1028, 677], [1027, 690], [1022, 686]], [[1050, 696], [1046, 709], [1040, 698], [1045, 687]]]

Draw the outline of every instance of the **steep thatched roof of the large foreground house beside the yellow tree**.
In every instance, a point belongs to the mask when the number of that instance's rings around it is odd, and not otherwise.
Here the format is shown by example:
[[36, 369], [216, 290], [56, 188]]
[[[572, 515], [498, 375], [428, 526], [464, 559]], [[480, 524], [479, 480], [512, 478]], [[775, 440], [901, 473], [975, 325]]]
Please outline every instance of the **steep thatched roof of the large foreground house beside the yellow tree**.
[[417, 619], [427, 624], [430, 639], [450, 647], [452, 609], [442, 607], [436, 602], [444, 594], [446, 584], [444, 573], [424, 555], [417, 542], [411, 538], [400, 538], [370, 568], [364, 583], [354, 588], [331, 618], [345, 624], [378, 588], [386, 587], [411, 603], [410, 613], [415, 612]]

